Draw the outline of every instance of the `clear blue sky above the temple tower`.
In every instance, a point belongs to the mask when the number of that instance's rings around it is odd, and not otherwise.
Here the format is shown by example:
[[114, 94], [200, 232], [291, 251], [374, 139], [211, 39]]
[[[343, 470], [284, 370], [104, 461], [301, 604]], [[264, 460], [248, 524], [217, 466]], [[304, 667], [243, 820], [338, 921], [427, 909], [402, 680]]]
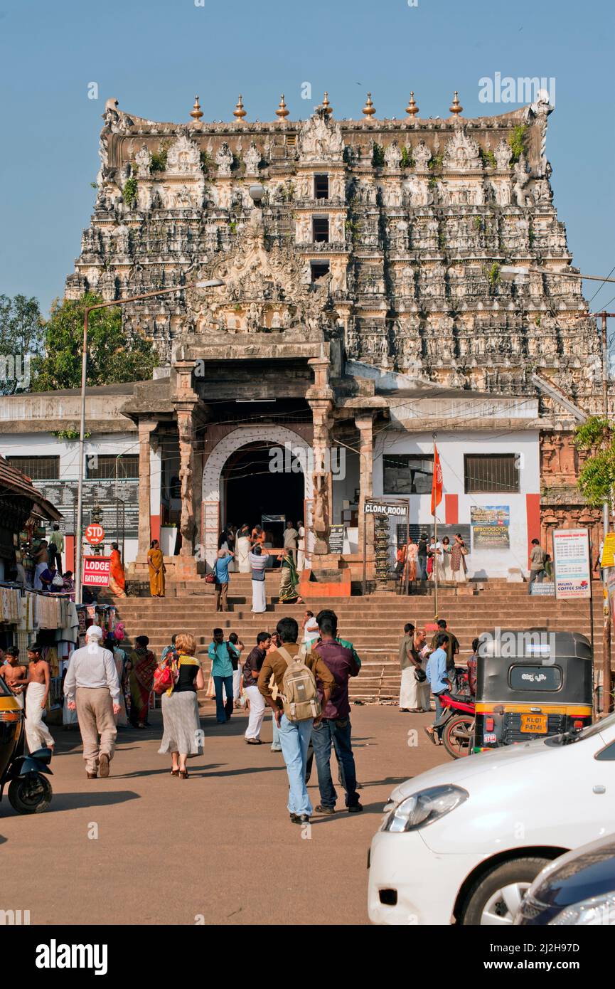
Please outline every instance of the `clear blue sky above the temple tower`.
[[[281, 92], [291, 119], [307, 117], [324, 89], [338, 118], [360, 117], [368, 89], [378, 117], [402, 118], [411, 89], [421, 117], [448, 117], [457, 89], [473, 117], [516, 106], [479, 101], [479, 80], [495, 72], [555, 77], [555, 204], [575, 263], [607, 275], [614, 22], [607, 0], [0, 0], [0, 293], [37, 296], [45, 313], [61, 295], [94, 204], [110, 96], [182, 123], [196, 93], [206, 120], [229, 120], [239, 92], [248, 120], [272, 120]], [[590, 298], [597, 286], [585, 288]], [[592, 309], [612, 296], [605, 286]]]

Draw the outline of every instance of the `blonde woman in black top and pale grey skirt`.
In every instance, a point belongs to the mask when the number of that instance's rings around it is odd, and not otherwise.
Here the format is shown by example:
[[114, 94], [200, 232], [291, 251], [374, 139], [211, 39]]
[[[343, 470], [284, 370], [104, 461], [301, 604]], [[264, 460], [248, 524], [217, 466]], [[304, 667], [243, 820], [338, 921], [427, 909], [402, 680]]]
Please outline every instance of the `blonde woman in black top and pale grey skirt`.
[[195, 637], [180, 634], [175, 639], [177, 680], [162, 695], [162, 724], [164, 732], [158, 752], [171, 754], [171, 775], [188, 779], [186, 760], [203, 754], [203, 732], [199, 720], [197, 690], [205, 689], [201, 663], [194, 653]]

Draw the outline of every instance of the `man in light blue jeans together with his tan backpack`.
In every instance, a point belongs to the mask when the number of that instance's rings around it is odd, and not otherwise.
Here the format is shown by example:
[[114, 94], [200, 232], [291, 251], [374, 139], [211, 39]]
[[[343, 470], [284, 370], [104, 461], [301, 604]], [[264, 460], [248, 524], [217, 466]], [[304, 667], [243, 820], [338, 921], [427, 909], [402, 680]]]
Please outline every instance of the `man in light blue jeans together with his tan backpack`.
[[[295, 618], [281, 618], [276, 632], [282, 640], [278, 649], [267, 653], [258, 689], [273, 708], [280, 731], [282, 755], [289, 777], [288, 809], [293, 824], [307, 824], [312, 813], [306, 786], [306, 760], [313, 724], [328, 703], [335, 678], [317, 653], [306, 653], [297, 645], [299, 625]], [[320, 682], [320, 702], [316, 679]]]

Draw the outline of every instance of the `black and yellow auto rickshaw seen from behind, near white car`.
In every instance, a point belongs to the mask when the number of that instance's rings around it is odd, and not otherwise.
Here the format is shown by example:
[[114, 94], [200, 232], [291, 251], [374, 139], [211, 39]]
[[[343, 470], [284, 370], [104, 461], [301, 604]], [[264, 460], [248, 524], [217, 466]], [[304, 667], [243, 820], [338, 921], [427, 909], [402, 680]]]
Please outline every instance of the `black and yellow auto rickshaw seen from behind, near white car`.
[[473, 751], [591, 723], [591, 645], [577, 632], [496, 629], [480, 637]]

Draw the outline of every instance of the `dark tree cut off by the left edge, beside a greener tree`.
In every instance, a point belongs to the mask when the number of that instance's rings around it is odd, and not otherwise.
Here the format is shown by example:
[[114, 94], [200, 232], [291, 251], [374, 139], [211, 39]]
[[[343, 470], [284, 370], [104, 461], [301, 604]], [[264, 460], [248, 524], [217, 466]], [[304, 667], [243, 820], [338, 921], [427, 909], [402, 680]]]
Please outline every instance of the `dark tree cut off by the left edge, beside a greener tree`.
[[36, 299], [0, 296], [0, 395], [30, 388], [31, 363], [44, 347], [44, 322]]

